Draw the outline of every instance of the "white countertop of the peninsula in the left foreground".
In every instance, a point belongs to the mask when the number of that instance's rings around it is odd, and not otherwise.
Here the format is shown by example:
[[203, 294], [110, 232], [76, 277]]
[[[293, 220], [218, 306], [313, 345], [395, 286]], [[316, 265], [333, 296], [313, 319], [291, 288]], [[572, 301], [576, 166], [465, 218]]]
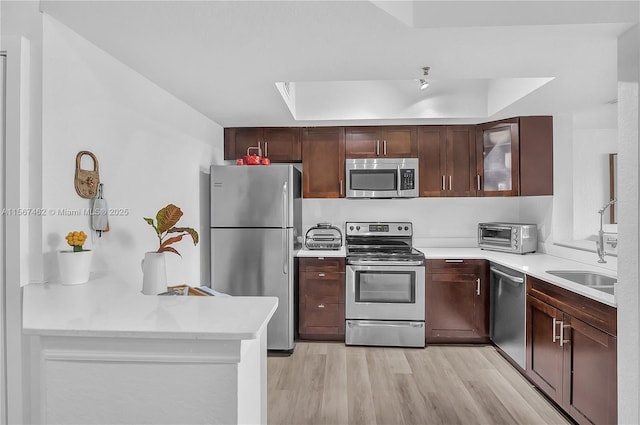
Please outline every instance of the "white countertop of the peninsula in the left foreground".
[[101, 277], [80, 285], [30, 284], [23, 293], [27, 334], [255, 339], [278, 306], [275, 297], [143, 295], [142, 285]]

